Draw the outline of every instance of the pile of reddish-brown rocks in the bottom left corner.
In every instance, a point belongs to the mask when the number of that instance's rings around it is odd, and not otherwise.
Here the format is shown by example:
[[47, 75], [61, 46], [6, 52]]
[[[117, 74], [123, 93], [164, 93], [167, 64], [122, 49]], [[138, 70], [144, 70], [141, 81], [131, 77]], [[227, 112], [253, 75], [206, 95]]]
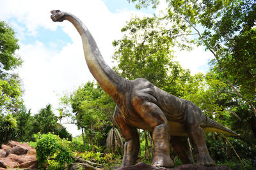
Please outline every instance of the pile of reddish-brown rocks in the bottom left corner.
[[38, 167], [35, 148], [29, 146], [28, 143], [19, 143], [16, 141], [8, 141], [7, 145], [1, 146], [0, 162], [0, 168]]

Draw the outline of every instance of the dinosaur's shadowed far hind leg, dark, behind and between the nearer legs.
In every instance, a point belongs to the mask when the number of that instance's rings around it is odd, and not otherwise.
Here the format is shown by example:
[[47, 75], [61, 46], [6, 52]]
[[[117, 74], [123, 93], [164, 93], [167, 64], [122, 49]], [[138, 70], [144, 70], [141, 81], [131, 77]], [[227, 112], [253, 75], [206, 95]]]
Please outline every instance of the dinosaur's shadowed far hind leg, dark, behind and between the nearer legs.
[[170, 143], [172, 144], [174, 153], [180, 158], [182, 164], [195, 164], [188, 137], [170, 136]]

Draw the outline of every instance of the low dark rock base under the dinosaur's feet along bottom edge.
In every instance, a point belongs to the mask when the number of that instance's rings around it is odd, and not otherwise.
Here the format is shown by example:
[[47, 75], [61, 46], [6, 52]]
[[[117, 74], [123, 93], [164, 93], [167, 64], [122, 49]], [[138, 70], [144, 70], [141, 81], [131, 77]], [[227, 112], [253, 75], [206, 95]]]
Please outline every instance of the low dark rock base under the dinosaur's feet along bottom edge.
[[116, 170], [135, 170], [135, 169], [140, 169], [140, 170], [156, 170], [156, 169], [161, 169], [161, 170], [228, 170], [228, 167], [223, 165], [223, 166], [201, 166], [201, 165], [194, 165], [194, 164], [185, 164], [182, 166], [177, 166], [174, 168], [165, 168], [165, 167], [154, 167], [151, 165], [146, 164], [145, 162], [140, 162], [134, 166], [127, 166], [127, 167], [120, 167]]

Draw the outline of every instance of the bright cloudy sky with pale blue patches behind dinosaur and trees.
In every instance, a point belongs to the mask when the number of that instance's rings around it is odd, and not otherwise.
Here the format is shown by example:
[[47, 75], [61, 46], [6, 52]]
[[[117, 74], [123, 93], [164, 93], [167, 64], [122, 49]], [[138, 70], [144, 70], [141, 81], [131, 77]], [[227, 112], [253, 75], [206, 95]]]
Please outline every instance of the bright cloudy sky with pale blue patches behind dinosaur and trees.
[[[150, 16], [163, 8], [165, 5], [161, 4], [156, 10], [136, 10], [127, 0], [0, 0], [0, 20], [8, 22], [19, 39], [16, 55], [23, 64], [17, 72], [22, 79], [26, 108], [35, 114], [52, 104], [54, 113], [58, 113], [63, 92], [72, 92], [82, 83], [94, 80], [86, 66], [78, 32], [68, 21], [52, 22], [51, 10], [67, 11], [80, 18], [106, 62], [113, 66], [112, 42], [122, 38], [120, 29], [125, 21], [134, 15]], [[205, 73], [212, 59], [211, 53], [201, 47], [191, 52], [177, 50], [175, 55], [175, 60], [193, 74]], [[79, 134], [73, 125], [65, 126], [73, 136]]]

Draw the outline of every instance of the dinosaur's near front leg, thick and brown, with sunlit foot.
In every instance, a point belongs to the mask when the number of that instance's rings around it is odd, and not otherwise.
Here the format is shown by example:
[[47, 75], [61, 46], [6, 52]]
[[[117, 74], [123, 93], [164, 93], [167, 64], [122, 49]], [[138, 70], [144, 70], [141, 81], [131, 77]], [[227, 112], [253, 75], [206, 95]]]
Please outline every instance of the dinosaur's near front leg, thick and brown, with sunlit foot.
[[134, 100], [133, 106], [145, 124], [152, 129], [154, 143], [152, 165], [173, 167], [169, 148], [170, 127], [163, 111], [156, 104], [146, 101], [145, 98], [137, 98]]

